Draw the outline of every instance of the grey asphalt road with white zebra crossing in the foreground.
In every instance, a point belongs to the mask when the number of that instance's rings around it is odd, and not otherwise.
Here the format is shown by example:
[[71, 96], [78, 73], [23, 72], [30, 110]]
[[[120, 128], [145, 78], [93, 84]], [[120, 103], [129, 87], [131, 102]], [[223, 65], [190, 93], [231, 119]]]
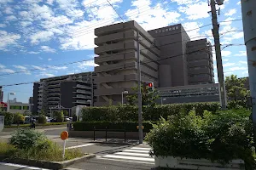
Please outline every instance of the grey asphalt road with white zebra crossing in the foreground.
[[[62, 145], [63, 141], [60, 139], [63, 128], [44, 129], [44, 133], [49, 139], [54, 140], [57, 144]], [[7, 139], [9, 134], [0, 133], [1, 137]], [[134, 146], [128, 144], [104, 144], [93, 143], [92, 139], [67, 139], [67, 148], [78, 149], [84, 153], [94, 153], [96, 158], [88, 161], [76, 163], [71, 168], [78, 168], [84, 170], [150, 170], [154, 169], [154, 158], [148, 155], [147, 148], [139, 148], [144, 146]], [[128, 157], [128, 159], [126, 159]], [[142, 161], [143, 160], [143, 161]], [[148, 161], [149, 160], [149, 161]], [[35, 167], [26, 167], [13, 164], [0, 163], [0, 169], [4, 170], [28, 170], [41, 169]]]

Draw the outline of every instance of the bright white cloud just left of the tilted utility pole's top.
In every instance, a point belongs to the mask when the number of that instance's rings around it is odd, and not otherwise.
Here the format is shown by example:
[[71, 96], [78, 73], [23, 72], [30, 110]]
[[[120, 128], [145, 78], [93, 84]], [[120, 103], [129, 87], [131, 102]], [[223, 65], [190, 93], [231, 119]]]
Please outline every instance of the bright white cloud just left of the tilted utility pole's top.
[[208, 3], [194, 3], [188, 6], [179, 7], [178, 10], [184, 14], [187, 14], [189, 20], [198, 20], [207, 18], [210, 15], [208, 11], [210, 10]]

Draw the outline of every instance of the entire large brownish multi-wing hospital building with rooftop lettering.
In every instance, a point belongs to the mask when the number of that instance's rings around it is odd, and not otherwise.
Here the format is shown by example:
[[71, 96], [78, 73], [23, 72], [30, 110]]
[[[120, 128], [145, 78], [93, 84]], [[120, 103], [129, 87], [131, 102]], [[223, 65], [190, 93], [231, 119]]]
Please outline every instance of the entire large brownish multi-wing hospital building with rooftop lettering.
[[190, 42], [180, 24], [145, 31], [129, 21], [96, 28], [95, 35], [96, 105], [117, 105], [122, 92], [135, 93], [131, 88], [137, 86], [137, 42], [142, 80], [154, 82], [156, 88], [214, 82], [207, 39]]

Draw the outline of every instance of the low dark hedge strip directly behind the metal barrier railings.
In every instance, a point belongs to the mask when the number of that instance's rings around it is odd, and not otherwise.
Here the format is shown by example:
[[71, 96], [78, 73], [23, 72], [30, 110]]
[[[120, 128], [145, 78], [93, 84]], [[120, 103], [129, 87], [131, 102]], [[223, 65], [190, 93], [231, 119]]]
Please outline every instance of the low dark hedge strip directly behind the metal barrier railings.
[[[137, 122], [74, 122], [73, 128], [75, 131], [93, 131], [94, 127], [96, 130], [108, 130], [114, 131], [126, 131], [126, 132], [137, 132]], [[152, 129], [150, 122], [143, 122], [144, 132], [149, 132]]]

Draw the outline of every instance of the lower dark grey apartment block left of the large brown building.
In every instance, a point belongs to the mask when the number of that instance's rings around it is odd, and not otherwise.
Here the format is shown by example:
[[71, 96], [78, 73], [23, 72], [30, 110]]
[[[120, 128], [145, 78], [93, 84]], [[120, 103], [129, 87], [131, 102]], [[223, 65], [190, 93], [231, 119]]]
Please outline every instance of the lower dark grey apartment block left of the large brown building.
[[50, 77], [34, 83], [33, 112], [51, 108], [93, 105], [93, 72]]

